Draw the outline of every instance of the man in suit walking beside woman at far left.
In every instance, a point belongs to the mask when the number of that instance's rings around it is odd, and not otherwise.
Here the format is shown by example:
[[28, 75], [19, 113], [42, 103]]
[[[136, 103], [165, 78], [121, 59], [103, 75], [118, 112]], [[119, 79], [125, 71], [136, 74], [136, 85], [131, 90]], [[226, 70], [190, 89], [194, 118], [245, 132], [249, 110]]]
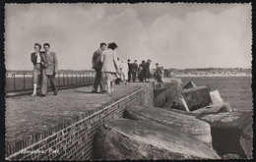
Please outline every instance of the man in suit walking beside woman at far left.
[[54, 52], [50, 52], [50, 44], [44, 43], [43, 48], [46, 56], [46, 66], [42, 69], [42, 92], [41, 96], [45, 96], [47, 94], [47, 78], [50, 81], [51, 89], [54, 92], [54, 95], [57, 95], [57, 86], [55, 81], [55, 75], [58, 72], [58, 60], [57, 56]]

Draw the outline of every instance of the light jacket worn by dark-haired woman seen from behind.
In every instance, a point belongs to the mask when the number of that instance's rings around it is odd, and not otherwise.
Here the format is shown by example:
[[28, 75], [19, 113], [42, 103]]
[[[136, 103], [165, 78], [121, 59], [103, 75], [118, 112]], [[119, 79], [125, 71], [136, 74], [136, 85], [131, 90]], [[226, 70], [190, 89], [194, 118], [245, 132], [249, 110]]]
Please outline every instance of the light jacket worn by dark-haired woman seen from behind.
[[119, 72], [119, 63], [117, 61], [115, 50], [106, 49], [103, 51], [101, 62], [103, 63], [101, 72], [117, 73]]

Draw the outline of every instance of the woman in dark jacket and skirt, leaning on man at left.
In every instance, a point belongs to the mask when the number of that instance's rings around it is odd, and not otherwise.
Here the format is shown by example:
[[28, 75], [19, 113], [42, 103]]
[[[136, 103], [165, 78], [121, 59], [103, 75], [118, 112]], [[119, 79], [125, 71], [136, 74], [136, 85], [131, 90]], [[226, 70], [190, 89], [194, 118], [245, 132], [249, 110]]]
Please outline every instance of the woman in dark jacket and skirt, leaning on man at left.
[[[35, 43], [33, 45], [34, 52], [32, 52], [31, 60], [33, 64], [33, 70], [32, 70], [32, 97], [36, 95], [36, 88], [37, 84], [41, 84], [41, 73], [42, 68], [44, 68], [46, 63], [46, 56], [43, 52], [40, 51], [41, 45], [38, 43]], [[41, 89], [42, 90], [42, 89]]]

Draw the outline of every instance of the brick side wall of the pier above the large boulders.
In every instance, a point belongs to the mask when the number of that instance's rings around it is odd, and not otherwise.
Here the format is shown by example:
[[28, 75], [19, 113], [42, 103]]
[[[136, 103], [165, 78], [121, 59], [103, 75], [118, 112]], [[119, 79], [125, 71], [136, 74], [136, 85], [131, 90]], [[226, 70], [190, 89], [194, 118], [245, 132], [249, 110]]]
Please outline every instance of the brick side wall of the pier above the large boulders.
[[29, 136], [6, 147], [6, 160], [88, 160], [93, 156], [93, 140], [97, 129], [113, 119], [121, 118], [129, 105], [154, 105], [154, 84], [93, 112], [83, 114], [79, 122], [52, 134]]

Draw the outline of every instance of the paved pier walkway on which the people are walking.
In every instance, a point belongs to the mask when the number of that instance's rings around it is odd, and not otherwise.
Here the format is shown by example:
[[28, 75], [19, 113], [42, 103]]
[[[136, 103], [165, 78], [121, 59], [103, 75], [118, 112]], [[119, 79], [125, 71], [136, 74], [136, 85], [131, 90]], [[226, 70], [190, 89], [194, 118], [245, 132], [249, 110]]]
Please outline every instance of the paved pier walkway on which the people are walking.
[[[70, 124], [109, 105], [152, 82], [128, 82], [114, 85], [114, 93], [92, 93], [92, 86], [48, 92], [46, 97], [22, 95], [6, 98], [6, 144], [28, 135], [56, 127], [63, 121]], [[63, 127], [63, 126], [62, 126]]]

